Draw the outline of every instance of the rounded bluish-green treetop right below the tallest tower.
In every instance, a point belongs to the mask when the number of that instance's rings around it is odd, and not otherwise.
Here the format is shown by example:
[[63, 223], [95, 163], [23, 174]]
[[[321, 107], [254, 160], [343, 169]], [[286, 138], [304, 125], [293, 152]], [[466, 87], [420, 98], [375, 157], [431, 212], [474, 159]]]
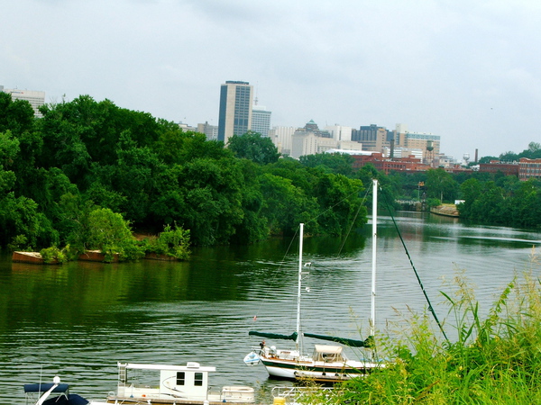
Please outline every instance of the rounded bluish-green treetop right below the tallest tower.
[[242, 136], [234, 135], [229, 139], [227, 147], [235, 157], [249, 159], [260, 165], [274, 163], [280, 157], [271, 138], [261, 137], [260, 133], [252, 131]]

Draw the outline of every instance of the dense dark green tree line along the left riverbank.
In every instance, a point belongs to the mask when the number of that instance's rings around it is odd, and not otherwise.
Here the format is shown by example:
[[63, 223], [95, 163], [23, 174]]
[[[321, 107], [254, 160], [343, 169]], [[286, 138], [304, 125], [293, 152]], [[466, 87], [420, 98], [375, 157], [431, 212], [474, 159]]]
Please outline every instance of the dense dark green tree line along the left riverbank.
[[225, 148], [88, 95], [41, 114], [0, 93], [2, 247], [129, 252], [126, 229], [179, 229], [169, 239], [196, 246], [247, 244], [291, 234], [299, 222], [340, 235], [366, 221], [358, 176], [279, 158], [259, 134]]

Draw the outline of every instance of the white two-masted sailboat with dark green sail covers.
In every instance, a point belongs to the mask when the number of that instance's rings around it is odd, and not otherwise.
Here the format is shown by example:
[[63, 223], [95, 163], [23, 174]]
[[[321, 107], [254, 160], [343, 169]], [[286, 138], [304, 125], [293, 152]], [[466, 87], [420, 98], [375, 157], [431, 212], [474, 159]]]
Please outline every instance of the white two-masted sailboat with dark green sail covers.
[[[362, 360], [350, 360], [344, 354], [344, 346], [349, 347], [373, 347], [375, 334], [375, 297], [376, 297], [376, 238], [377, 238], [377, 207], [378, 207], [378, 181], [373, 180], [372, 201], [372, 272], [371, 272], [371, 335], [365, 340], [339, 338], [326, 335], [301, 332], [300, 330], [300, 303], [302, 291], [302, 279], [307, 275], [304, 271], [302, 248], [304, 224], [300, 224], [300, 238], [298, 247], [298, 294], [297, 294], [297, 328], [291, 335], [250, 331], [249, 335], [270, 339], [289, 339], [295, 341], [294, 349], [279, 349], [274, 346], [268, 347], [264, 340], [261, 347], [253, 349], [244, 357], [246, 365], [258, 365], [262, 363], [271, 377], [288, 380], [312, 380], [319, 382], [335, 382], [349, 380], [370, 373], [372, 370], [385, 365], [373, 358]], [[303, 354], [301, 347], [301, 333], [307, 338], [317, 338], [332, 341], [340, 345], [314, 345], [311, 355]], [[341, 346], [344, 345], [344, 346]]]

